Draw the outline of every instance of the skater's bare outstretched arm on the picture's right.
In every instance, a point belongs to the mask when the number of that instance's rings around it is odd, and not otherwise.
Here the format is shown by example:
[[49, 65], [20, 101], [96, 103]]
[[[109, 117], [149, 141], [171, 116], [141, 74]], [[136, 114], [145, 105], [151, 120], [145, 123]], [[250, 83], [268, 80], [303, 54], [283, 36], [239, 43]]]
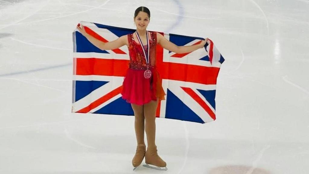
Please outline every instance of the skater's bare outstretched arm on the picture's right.
[[204, 45], [206, 44], [208, 38], [205, 38], [205, 40], [201, 41], [201, 43], [197, 45], [191, 45], [191, 46], [177, 46], [171, 41], [168, 41], [165, 37], [163, 37], [160, 33], [157, 33], [157, 40], [158, 43], [165, 49], [172, 51], [174, 53], [188, 53], [195, 51], [199, 48], [203, 48]]

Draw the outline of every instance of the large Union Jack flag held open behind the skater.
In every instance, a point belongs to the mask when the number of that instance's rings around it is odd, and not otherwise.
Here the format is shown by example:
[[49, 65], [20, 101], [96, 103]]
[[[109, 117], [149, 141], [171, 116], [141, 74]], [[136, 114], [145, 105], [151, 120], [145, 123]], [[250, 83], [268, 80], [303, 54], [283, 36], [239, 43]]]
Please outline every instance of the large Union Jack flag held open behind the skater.
[[[93, 37], [112, 41], [133, 33], [128, 28], [82, 21]], [[200, 37], [161, 33], [178, 46], [199, 44]], [[73, 32], [72, 112], [134, 115], [131, 104], [121, 98], [122, 82], [129, 67], [127, 46], [100, 50], [78, 30]], [[214, 121], [218, 73], [224, 58], [209, 40], [205, 49], [177, 54], [157, 45], [156, 65], [167, 94], [159, 102], [156, 117], [206, 123]]]

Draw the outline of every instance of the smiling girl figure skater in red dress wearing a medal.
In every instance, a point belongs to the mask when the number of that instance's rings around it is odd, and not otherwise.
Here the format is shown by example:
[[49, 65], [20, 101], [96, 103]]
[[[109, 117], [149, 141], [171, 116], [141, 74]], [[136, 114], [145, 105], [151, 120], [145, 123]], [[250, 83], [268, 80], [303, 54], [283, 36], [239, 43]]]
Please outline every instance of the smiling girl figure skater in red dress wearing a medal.
[[[163, 35], [146, 30], [150, 21], [150, 11], [146, 7], [138, 7], [134, 13], [136, 32], [119, 37], [110, 42], [102, 42], [85, 32], [82, 25], [77, 29], [93, 45], [101, 50], [113, 50], [128, 46], [129, 68], [122, 89], [122, 98], [131, 103], [135, 115], [135, 133], [137, 140], [136, 153], [132, 159], [135, 170], [144, 157], [146, 165], [158, 170], [167, 170], [166, 162], [157, 153], [155, 145], [155, 114], [160, 100], [165, 100], [159, 72], [156, 68], [156, 45], [175, 53], [188, 53], [203, 48], [208, 38], [198, 45], [177, 46]], [[145, 123], [146, 122], [146, 123]], [[144, 142], [144, 132], [147, 136], [147, 150]], [[153, 166], [151, 166], [153, 165]]]

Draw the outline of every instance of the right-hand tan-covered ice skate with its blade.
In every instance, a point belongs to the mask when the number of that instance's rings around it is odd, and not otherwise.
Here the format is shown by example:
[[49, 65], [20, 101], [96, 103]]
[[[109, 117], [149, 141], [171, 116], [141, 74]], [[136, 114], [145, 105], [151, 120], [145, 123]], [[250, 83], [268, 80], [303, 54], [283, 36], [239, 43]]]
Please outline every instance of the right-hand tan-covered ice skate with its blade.
[[166, 163], [161, 159], [157, 153], [157, 146], [153, 149], [148, 149], [145, 153], [145, 162], [144, 167], [156, 169], [156, 170], [167, 170]]

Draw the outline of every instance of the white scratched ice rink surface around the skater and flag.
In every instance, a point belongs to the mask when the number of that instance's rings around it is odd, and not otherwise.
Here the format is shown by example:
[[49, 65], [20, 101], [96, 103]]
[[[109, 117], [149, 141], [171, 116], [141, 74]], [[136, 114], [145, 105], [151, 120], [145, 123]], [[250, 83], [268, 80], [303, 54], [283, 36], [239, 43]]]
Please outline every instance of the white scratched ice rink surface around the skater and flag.
[[[156, 120], [167, 171], [132, 170], [133, 116], [71, 113], [76, 25], [135, 28], [139, 6], [226, 59], [217, 120]], [[0, 173], [307, 174], [308, 67], [308, 0], [0, 0]]]

